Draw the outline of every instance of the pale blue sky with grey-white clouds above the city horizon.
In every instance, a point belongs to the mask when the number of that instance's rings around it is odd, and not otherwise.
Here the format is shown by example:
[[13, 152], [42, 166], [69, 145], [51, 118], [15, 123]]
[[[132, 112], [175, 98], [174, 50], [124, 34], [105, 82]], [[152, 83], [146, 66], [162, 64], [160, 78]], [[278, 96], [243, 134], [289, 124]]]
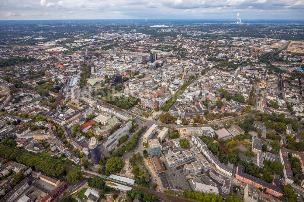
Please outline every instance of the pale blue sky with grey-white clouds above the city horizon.
[[0, 20], [304, 19], [304, 0], [9, 0]]

